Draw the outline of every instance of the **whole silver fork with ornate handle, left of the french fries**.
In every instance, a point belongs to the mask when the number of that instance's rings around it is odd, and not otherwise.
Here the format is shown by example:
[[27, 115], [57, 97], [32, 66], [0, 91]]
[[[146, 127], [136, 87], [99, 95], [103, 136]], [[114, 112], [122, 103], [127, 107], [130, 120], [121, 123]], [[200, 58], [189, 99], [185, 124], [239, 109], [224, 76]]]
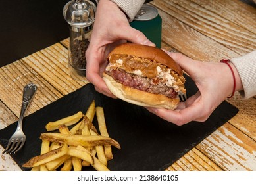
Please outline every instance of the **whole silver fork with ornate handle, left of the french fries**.
[[34, 83], [28, 83], [23, 89], [23, 98], [22, 98], [22, 107], [20, 110], [20, 118], [18, 120], [18, 126], [14, 134], [9, 139], [8, 145], [6, 149], [3, 151], [3, 154], [6, 152], [6, 154], [16, 153], [18, 150], [20, 150], [25, 141], [26, 141], [26, 135], [22, 131], [22, 120], [24, 118], [24, 114], [26, 112], [26, 109], [28, 108], [28, 105], [32, 101], [35, 93], [36, 93], [37, 87]]

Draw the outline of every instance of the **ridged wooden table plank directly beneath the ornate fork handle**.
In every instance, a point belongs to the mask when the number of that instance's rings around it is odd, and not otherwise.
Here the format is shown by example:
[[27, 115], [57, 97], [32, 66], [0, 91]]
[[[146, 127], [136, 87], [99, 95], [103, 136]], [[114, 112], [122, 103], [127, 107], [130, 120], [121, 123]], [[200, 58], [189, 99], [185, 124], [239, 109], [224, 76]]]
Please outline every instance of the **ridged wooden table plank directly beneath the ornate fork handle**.
[[22, 103], [23, 87], [30, 81], [36, 83], [38, 91], [30, 103], [26, 115], [39, 110], [43, 106], [56, 101], [63, 95], [53, 86], [49, 85], [41, 76], [26, 66], [22, 60], [13, 62], [0, 68], [0, 93], [1, 101], [18, 117], [20, 115], [20, 106]]

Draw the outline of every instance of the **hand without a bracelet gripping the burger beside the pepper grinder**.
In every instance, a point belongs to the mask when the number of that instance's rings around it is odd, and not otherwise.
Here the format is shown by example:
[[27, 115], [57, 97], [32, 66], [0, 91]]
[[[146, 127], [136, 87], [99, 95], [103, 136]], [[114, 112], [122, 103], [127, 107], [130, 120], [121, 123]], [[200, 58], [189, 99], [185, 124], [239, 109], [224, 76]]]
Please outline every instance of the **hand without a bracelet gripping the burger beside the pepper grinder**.
[[124, 12], [109, 0], [101, 0], [97, 6], [90, 45], [86, 51], [86, 78], [95, 89], [115, 98], [103, 81], [101, 74], [107, 66], [107, 55], [114, 47], [126, 42], [155, 46], [142, 32], [130, 27]]

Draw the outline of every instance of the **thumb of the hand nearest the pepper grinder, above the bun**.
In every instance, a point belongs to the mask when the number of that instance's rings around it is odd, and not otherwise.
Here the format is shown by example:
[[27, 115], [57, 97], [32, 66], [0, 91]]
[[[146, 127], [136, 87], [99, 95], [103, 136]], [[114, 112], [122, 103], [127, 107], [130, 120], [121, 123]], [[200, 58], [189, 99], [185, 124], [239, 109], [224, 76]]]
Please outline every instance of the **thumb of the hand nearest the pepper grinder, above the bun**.
[[140, 32], [139, 30], [136, 30], [132, 27], [129, 27], [126, 29], [126, 33], [122, 33], [122, 37], [124, 37], [124, 39], [132, 42], [132, 43], [137, 43], [137, 44], [141, 44], [141, 45], [149, 45], [149, 46], [153, 46], [155, 47], [155, 43], [151, 42], [149, 39], [147, 39], [147, 37]]

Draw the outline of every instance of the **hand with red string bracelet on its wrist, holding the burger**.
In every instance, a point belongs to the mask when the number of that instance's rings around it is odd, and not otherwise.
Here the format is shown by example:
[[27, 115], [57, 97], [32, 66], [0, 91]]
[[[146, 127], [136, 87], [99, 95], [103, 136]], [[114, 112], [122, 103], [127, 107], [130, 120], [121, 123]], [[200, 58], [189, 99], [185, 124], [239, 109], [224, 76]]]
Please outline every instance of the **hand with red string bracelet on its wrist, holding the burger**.
[[[185, 102], [180, 102], [176, 110], [163, 108], [147, 108], [147, 110], [178, 126], [191, 121], [204, 122], [232, 93], [234, 81], [230, 68], [220, 62], [200, 62], [181, 53], [167, 53], [190, 75], [199, 91]], [[236, 91], [242, 90], [238, 72], [232, 63], [230, 66], [236, 76]]]

